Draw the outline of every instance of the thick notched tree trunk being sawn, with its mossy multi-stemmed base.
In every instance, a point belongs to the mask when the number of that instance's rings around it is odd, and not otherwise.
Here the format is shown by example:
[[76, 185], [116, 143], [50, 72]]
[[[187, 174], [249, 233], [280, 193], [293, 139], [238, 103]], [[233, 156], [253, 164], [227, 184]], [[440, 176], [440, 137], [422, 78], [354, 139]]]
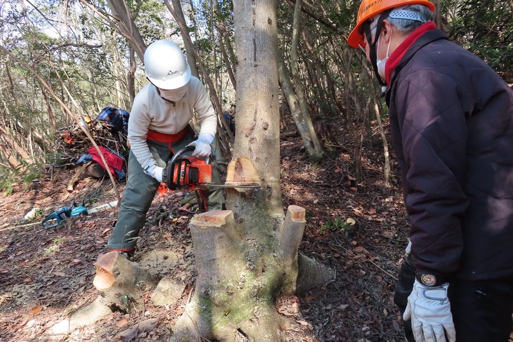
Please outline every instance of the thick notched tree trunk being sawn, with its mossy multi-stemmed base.
[[170, 341], [234, 340], [238, 331], [250, 341], [278, 341], [290, 323], [274, 308], [275, 299], [334, 277], [298, 254], [305, 209], [289, 206], [283, 212], [276, 3], [235, 0], [233, 6], [238, 126], [227, 184], [253, 181], [261, 188], [228, 188], [230, 210], [192, 218], [198, 277]]

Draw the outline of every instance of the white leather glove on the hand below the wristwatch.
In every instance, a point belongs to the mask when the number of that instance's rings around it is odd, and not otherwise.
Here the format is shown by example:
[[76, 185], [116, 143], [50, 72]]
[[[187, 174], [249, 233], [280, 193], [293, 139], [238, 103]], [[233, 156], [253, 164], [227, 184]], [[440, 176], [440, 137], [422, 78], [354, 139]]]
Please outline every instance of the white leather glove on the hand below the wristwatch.
[[448, 287], [447, 283], [426, 287], [415, 279], [403, 319], [411, 319], [416, 342], [456, 342], [456, 330], [447, 298]]

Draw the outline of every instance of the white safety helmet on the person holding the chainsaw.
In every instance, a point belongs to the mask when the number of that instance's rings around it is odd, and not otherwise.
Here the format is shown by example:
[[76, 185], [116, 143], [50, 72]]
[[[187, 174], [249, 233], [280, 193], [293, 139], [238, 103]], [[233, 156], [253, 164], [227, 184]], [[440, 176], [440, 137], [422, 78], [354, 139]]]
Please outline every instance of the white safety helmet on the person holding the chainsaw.
[[179, 46], [170, 41], [151, 43], [144, 52], [146, 77], [161, 89], [185, 86], [191, 78], [191, 68]]

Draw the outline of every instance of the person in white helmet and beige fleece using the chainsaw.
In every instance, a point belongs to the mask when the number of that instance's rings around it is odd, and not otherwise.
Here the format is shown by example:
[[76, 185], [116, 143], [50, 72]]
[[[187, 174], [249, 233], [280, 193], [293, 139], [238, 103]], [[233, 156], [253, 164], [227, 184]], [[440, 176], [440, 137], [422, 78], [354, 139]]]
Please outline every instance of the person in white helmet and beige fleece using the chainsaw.
[[[130, 111], [127, 184], [107, 243], [109, 250], [129, 255], [133, 255], [168, 160], [189, 145], [195, 147], [193, 156], [209, 156], [217, 129], [217, 117], [205, 86], [191, 75], [179, 46], [166, 40], [150, 44], [144, 53], [144, 66], [150, 83], [137, 93]], [[201, 125], [197, 138], [189, 126], [194, 112]], [[215, 166], [212, 180], [220, 184]], [[202, 192], [202, 196], [208, 210], [222, 209], [221, 189]]]

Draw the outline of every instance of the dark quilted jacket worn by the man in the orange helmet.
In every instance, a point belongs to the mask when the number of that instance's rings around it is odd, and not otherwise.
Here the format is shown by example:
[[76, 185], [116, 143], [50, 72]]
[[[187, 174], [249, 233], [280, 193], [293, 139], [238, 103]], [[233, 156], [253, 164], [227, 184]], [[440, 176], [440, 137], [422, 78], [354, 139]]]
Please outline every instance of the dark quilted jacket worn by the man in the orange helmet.
[[513, 91], [431, 30], [394, 69], [387, 104], [417, 269], [513, 275]]

